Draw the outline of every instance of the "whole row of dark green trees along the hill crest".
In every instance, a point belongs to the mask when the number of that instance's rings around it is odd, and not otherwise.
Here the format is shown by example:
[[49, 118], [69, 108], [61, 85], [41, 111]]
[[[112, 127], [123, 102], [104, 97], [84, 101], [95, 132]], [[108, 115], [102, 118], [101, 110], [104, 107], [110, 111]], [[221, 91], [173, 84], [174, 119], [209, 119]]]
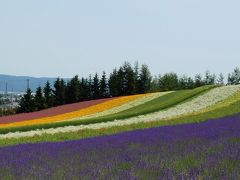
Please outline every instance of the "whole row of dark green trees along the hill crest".
[[[27, 89], [20, 100], [18, 113], [34, 112], [64, 104], [87, 100], [142, 94], [147, 92], [193, 89], [204, 85], [225, 84], [223, 74], [216, 76], [206, 71], [205, 75], [197, 74], [194, 78], [176, 73], [166, 73], [152, 77], [146, 64], [136, 62], [133, 66], [125, 62], [119, 68], [113, 69], [107, 77], [95, 73], [88, 78], [74, 76], [68, 81], [57, 78], [53, 85], [46, 82], [45, 87], [37, 88], [33, 93]], [[228, 74], [227, 84], [240, 84], [240, 70], [235, 68]]]

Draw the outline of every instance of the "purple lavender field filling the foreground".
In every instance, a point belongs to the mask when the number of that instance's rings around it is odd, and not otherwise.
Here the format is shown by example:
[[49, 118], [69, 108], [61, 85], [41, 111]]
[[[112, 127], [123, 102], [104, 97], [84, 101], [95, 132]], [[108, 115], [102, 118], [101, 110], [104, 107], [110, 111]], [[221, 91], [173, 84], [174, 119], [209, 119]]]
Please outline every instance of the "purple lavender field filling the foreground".
[[0, 179], [240, 178], [240, 115], [0, 148]]

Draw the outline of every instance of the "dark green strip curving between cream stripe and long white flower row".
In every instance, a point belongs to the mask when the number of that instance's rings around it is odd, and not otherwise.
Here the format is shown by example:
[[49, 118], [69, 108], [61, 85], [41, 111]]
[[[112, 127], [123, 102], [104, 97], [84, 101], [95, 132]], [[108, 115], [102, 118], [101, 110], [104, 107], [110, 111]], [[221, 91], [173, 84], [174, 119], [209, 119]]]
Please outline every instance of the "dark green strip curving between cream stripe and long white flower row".
[[36, 130], [36, 129], [49, 129], [49, 128], [56, 128], [56, 127], [70, 126], [70, 125], [72, 126], [88, 125], [93, 123], [114, 121], [115, 119], [127, 119], [134, 116], [153, 113], [156, 111], [170, 108], [180, 103], [184, 103], [198, 95], [201, 95], [202, 93], [205, 93], [206, 91], [214, 87], [215, 86], [203, 86], [193, 90], [175, 91], [175, 92], [166, 94], [164, 96], [161, 96], [159, 98], [156, 98], [147, 103], [144, 103], [142, 105], [130, 108], [128, 110], [125, 110], [116, 114], [108, 115], [108, 116], [99, 117], [99, 118], [61, 121], [61, 122], [19, 126], [19, 127], [12, 127], [12, 128], [1, 128], [0, 134], [6, 134], [9, 132], [16, 132], [16, 131], [24, 132], [24, 131]]

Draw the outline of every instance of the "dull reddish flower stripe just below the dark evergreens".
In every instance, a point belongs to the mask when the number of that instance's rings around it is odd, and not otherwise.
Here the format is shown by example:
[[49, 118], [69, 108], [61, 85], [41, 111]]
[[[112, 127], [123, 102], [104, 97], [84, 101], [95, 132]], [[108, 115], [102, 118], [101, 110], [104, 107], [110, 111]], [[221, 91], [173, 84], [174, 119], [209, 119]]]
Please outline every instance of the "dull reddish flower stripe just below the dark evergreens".
[[79, 102], [74, 104], [67, 104], [63, 106], [53, 107], [53, 108], [45, 109], [42, 111], [32, 112], [32, 113], [21, 113], [21, 114], [16, 114], [11, 116], [3, 116], [3, 117], [0, 117], [0, 124], [8, 124], [13, 122], [33, 120], [37, 118], [44, 118], [44, 117], [55, 116], [63, 113], [69, 113], [69, 112], [84, 109], [93, 105], [97, 105], [99, 103], [103, 103], [109, 100], [113, 100], [115, 98], [84, 101], [84, 102]]

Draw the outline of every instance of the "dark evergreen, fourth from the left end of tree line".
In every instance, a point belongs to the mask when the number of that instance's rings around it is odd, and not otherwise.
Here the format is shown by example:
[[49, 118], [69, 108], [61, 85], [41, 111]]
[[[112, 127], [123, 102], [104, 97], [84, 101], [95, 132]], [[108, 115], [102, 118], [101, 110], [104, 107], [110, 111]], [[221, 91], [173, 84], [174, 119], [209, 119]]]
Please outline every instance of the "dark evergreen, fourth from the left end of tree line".
[[53, 90], [53, 97], [54, 97], [54, 105], [63, 105], [65, 104], [65, 94], [66, 94], [66, 85], [63, 79], [57, 78], [54, 82], [54, 90]]

